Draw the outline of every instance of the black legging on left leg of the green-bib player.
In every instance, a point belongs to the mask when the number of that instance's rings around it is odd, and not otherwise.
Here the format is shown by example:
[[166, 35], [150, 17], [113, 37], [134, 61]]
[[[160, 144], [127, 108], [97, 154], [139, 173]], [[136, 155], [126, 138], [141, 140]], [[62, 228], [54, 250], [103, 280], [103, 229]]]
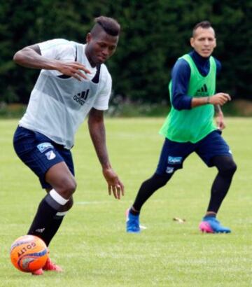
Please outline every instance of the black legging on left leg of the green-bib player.
[[151, 179], [147, 179], [147, 181], [144, 181], [144, 183], [141, 184], [139, 192], [137, 193], [136, 200], [133, 204], [135, 211], [138, 211], [139, 213], [144, 202], [146, 202], [146, 200], [148, 200], [148, 198], [151, 197], [151, 195], [153, 195], [156, 190], [158, 190], [162, 186], [165, 186], [165, 184], [167, 183], [167, 181], [169, 181], [169, 179], [171, 179], [171, 177], [172, 174], [154, 174]]

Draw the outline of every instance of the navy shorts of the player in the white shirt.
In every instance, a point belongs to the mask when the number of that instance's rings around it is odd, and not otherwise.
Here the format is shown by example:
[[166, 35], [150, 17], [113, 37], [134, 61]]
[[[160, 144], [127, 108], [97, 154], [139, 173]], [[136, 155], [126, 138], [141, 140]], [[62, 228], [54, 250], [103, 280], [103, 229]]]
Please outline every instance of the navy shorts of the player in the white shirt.
[[71, 151], [39, 132], [18, 127], [14, 134], [13, 146], [20, 160], [38, 176], [42, 188], [51, 188], [45, 181], [45, 173], [59, 162], [66, 162], [74, 176]]

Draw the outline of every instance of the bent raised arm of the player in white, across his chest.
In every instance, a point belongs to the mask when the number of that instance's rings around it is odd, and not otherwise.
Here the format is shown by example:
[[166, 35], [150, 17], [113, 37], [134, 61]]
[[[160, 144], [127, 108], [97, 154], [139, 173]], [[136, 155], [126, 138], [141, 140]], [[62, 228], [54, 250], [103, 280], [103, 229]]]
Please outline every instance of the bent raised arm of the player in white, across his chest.
[[[57, 70], [60, 73], [81, 80], [87, 79], [85, 73], [90, 71], [78, 62], [66, 62], [58, 59], [48, 59], [41, 55], [39, 45], [30, 45], [15, 53], [13, 61], [20, 66], [32, 69]], [[84, 71], [85, 73], [83, 73]]]

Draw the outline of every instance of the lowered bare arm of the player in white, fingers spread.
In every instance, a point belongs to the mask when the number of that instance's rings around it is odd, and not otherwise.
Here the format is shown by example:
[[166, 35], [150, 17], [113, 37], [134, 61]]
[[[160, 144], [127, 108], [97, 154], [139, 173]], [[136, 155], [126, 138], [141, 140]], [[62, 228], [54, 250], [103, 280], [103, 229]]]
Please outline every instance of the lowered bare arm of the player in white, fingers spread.
[[113, 196], [120, 200], [121, 195], [124, 195], [124, 186], [109, 162], [103, 111], [91, 109], [88, 118], [88, 128], [97, 157], [102, 165], [102, 173], [108, 183], [109, 195], [113, 193]]

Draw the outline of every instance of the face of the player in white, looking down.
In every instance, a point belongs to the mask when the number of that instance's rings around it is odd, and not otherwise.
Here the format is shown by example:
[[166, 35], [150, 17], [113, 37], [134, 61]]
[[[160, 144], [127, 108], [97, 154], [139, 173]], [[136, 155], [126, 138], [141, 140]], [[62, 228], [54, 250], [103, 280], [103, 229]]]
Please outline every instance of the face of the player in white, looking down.
[[91, 66], [106, 62], [116, 52], [118, 38], [118, 36], [106, 34], [104, 30], [94, 36], [90, 33], [87, 34], [85, 54]]

